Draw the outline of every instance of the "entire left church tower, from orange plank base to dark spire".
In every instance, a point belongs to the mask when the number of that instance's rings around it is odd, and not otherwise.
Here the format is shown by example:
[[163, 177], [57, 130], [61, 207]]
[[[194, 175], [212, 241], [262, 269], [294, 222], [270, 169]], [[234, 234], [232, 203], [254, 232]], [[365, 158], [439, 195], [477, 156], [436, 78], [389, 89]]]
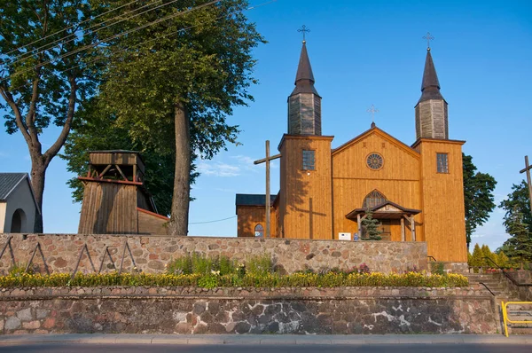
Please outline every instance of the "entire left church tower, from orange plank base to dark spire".
[[278, 146], [281, 238], [332, 239], [332, 137], [321, 136], [321, 97], [314, 82], [303, 39], [295, 89], [288, 97], [288, 131]]

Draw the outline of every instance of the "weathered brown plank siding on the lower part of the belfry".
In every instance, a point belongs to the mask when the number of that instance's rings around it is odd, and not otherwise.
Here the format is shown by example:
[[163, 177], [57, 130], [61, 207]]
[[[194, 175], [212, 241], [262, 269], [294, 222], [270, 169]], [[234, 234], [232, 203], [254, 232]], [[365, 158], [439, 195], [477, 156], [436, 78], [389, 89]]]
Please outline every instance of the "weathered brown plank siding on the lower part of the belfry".
[[87, 182], [78, 232], [137, 234], [137, 186]]

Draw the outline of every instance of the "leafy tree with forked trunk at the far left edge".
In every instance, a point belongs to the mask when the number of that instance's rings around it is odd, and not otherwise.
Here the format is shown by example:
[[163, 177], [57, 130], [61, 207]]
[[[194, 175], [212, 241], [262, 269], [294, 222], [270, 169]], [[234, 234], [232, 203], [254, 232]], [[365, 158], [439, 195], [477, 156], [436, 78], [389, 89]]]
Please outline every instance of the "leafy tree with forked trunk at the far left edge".
[[[83, 0], [2, 0], [0, 4], [0, 108], [8, 134], [20, 131], [31, 159], [35, 200], [43, 210], [46, 169], [66, 141], [76, 106], [98, 82], [98, 66], [86, 62], [95, 42], [86, 30], [98, 9]], [[86, 22], [87, 21], [87, 22]], [[59, 41], [59, 42], [58, 42]], [[46, 151], [40, 135], [53, 123], [59, 136]], [[35, 216], [43, 231], [43, 215]]]

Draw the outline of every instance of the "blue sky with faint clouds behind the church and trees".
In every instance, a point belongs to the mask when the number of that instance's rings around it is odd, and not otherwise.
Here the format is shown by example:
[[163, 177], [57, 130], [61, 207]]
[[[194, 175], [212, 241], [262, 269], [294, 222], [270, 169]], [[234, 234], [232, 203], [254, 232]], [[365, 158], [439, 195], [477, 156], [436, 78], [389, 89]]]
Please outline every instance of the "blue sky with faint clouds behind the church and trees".
[[[253, 0], [262, 4], [266, 0]], [[316, 88], [323, 97], [324, 135], [338, 146], [369, 129], [371, 115], [407, 145], [415, 140], [414, 106], [420, 96], [427, 31], [434, 64], [449, 103], [450, 138], [465, 139], [464, 152], [482, 172], [497, 179], [496, 203], [520, 183], [524, 155], [532, 158], [532, 3], [528, 1], [313, 1], [278, 0], [246, 12], [269, 43], [254, 51], [251, 88], [255, 100], [235, 109], [228, 122], [239, 125], [241, 145], [230, 145], [211, 161], [199, 161], [190, 235], [236, 235], [235, 193], [263, 193], [264, 166], [253, 161], [272, 153], [286, 132], [286, 98], [301, 51], [306, 25]], [[43, 137], [47, 147], [58, 129]], [[0, 171], [30, 170], [20, 133], [0, 134]], [[278, 191], [278, 162], [272, 166], [272, 192]], [[44, 231], [77, 231], [80, 205], [66, 180], [66, 162], [56, 158], [46, 176]], [[503, 211], [476, 231], [473, 243], [492, 249], [507, 238]], [[224, 218], [222, 222], [204, 223]]]

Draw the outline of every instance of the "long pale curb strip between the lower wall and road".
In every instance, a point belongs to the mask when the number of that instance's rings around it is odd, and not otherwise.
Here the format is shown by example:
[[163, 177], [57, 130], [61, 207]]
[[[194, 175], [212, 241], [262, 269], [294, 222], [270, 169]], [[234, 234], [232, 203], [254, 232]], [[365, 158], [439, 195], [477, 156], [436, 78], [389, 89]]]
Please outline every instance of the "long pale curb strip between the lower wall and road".
[[0, 336], [0, 346], [35, 343], [175, 345], [387, 345], [387, 344], [532, 344], [532, 335], [375, 334], [375, 335], [177, 335], [177, 334], [20, 334]]

